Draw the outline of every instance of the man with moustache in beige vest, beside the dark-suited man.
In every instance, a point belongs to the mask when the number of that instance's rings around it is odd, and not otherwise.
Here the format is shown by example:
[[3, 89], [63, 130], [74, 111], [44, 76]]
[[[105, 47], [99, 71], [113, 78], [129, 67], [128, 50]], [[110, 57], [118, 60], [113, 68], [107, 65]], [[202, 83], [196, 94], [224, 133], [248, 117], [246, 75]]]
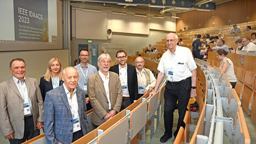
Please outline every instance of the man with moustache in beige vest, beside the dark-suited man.
[[148, 90], [154, 87], [157, 80], [153, 73], [148, 68], [144, 67], [145, 61], [142, 57], [137, 57], [134, 63], [138, 78], [138, 94], [141, 97], [143, 94], [146, 94]]

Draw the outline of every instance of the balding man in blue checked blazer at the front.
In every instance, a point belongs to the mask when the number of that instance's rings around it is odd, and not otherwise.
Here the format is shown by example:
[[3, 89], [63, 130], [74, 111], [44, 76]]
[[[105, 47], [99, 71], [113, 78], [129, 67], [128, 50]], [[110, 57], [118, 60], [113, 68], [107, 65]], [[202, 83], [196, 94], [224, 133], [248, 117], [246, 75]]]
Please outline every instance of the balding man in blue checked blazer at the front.
[[47, 143], [71, 143], [89, 132], [84, 90], [74, 67], [63, 71], [63, 84], [46, 93], [44, 130]]

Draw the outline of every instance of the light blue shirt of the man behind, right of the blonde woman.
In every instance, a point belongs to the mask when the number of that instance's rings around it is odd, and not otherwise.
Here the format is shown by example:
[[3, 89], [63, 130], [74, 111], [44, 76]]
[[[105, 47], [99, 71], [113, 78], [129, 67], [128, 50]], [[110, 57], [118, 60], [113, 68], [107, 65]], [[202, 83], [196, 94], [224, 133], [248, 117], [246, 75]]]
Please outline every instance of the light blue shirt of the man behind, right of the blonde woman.
[[[78, 74], [79, 74], [78, 87], [81, 89], [83, 89], [83, 84], [84, 82], [87, 82], [88, 77], [92, 76], [94, 73], [97, 73], [97, 68], [93, 65], [90, 65], [90, 63], [87, 63], [86, 67], [83, 67], [81, 63], [79, 63], [79, 65], [74, 66], [74, 68], [76, 68], [78, 71]], [[86, 94], [87, 94], [87, 90], [86, 90]]]

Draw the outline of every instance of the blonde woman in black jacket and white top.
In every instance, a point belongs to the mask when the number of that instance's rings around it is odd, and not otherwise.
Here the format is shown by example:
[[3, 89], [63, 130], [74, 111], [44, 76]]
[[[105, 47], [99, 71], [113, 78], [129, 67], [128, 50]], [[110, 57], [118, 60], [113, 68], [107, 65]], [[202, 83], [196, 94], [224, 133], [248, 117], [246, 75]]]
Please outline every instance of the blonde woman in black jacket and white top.
[[44, 76], [40, 79], [40, 90], [42, 95], [42, 100], [45, 102], [45, 94], [49, 90], [61, 86], [63, 83], [62, 77], [62, 65], [58, 58], [54, 57], [48, 63], [48, 67]]

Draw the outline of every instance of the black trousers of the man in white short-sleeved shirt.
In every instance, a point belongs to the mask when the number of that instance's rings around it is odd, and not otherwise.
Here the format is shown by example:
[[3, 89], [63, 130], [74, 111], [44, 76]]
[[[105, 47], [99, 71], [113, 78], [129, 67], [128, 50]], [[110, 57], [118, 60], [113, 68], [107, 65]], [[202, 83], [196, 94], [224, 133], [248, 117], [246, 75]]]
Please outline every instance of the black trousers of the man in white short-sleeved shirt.
[[188, 105], [191, 90], [191, 78], [187, 78], [180, 83], [172, 84], [167, 82], [166, 90], [164, 91], [164, 128], [166, 131], [164, 134], [172, 136], [173, 129], [173, 112], [178, 102], [178, 125], [174, 132], [174, 137], [177, 136], [179, 127], [185, 128], [184, 116], [186, 114], [186, 106]]

